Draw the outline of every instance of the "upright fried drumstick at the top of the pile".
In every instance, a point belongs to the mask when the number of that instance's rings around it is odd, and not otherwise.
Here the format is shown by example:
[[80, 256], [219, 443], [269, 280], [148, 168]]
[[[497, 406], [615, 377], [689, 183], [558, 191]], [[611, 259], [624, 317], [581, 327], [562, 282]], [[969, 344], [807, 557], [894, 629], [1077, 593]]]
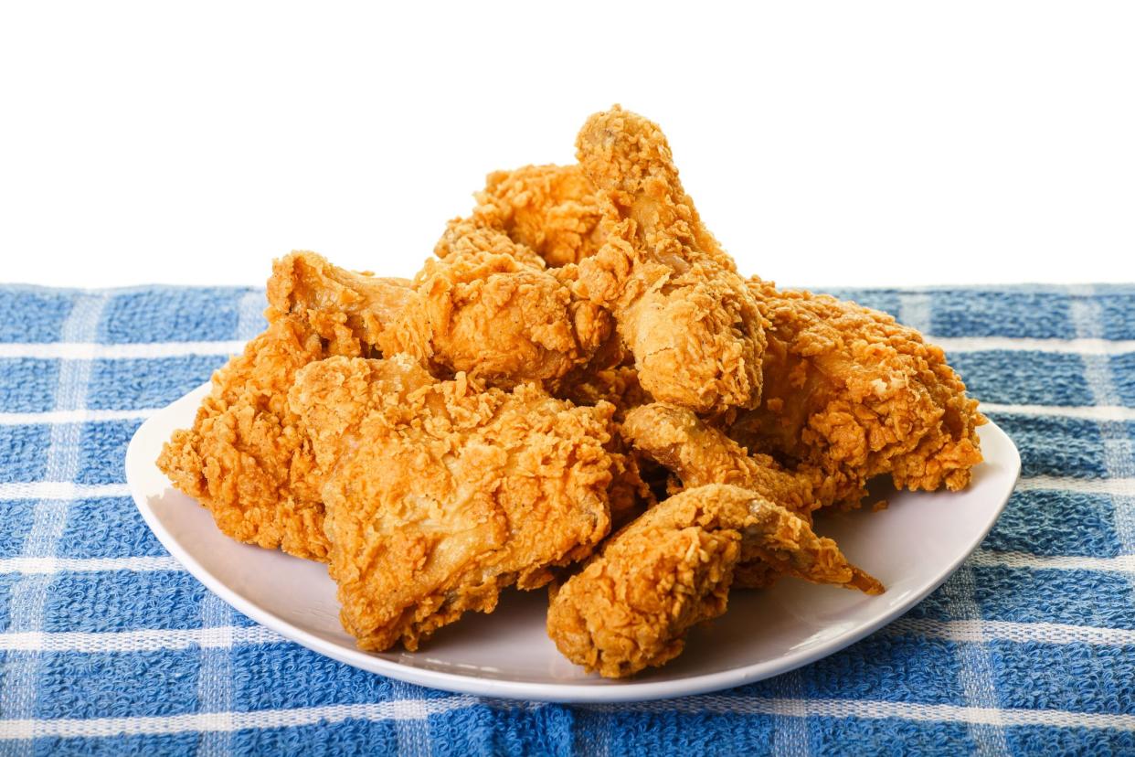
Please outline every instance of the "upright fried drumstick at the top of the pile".
[[760, 314], [658, 126], [616, 106], [591, 116], [575, 146], [604, 207], [604, 244], [580, 261], [577, 293], [611, 309], [656, 399], [699, 412], [755, 406]]

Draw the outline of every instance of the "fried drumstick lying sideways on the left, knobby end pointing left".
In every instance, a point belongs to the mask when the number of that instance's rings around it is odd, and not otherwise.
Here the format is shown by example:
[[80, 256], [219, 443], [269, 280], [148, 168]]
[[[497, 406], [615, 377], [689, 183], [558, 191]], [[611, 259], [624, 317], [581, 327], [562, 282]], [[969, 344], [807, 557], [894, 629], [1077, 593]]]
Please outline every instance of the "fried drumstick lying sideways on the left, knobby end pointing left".
[[285, 261], [291, 276], [269, 283], [277, 310], [302, 314], [325, 339], [413, 355], [437, 376], [554, 386], [613, 331], [605, 310], [573, 298], [538, 255], [494, 229], [457, 229], [449, 255], [427, 260], [413, 281], [353, 274], [308, 252]]

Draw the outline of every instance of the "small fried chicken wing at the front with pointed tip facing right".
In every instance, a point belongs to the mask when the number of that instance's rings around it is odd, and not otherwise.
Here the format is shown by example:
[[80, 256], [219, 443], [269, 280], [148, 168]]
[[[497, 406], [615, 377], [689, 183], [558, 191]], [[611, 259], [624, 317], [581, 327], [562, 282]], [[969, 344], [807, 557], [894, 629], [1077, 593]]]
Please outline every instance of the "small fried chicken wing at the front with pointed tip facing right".
[[734, 569], [777, 571], [867, 594], [882, 586], [831, 539], [758, 494], [734, 486], [687, 489], [614, 535], [553, 592], [548, 636], [569, 659], [607, 678], [673, 659], [686, 633], [725, 612]]

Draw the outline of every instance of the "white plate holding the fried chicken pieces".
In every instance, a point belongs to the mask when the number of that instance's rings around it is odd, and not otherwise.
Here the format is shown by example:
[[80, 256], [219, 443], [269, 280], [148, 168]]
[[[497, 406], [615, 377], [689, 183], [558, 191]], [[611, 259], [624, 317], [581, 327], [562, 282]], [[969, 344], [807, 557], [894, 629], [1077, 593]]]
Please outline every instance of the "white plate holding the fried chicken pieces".
[[832, 513], [816, 530], [878, 578], [878, 597], [784, 579], [734, 591], [729, 612], [690, 633], [665, 667], [624, 681], [588, 675], [545, 632], [547, 594], [507, 591], [491, 615], [470, 613], [417, 653], [360, 651], [340, 628], [335, 584], [320, 563], [238, 544], [209, 512], [173, 489], [154, 465], [162, 443], [193, 422], [208, 386], [150, 418], [126, 452], [126, 480], [146, 523], [185, 569], [238, 611], [314, 651], [411, 683], [487, 697], [631, 701], [715, 691], [806, 665], [894, 620], [938, 588], [1004, 507], [1020, 456], [993, 423], [982, 427], [983, 464], [960, 493], [892, 493], [890, 507]]

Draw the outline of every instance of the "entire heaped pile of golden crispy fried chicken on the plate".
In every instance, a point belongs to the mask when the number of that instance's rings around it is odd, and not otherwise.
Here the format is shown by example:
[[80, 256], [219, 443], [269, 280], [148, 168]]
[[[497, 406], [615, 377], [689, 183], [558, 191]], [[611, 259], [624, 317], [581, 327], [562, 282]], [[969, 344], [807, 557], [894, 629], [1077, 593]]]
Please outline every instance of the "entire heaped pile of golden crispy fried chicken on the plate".
[[412, 280], [275, 261], [267, 330], [162, 448], [225, 533], [329, 562], [362, 649], [557, 579], [560, 650], [632, 675], [731, 588], [881, 592], [814, 511], [876, 476], [958, 489], [981, 462], [942, 351], [742, 279], [657, 125], [615, 106], [575, 146], [490, 174]]

